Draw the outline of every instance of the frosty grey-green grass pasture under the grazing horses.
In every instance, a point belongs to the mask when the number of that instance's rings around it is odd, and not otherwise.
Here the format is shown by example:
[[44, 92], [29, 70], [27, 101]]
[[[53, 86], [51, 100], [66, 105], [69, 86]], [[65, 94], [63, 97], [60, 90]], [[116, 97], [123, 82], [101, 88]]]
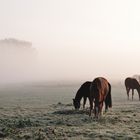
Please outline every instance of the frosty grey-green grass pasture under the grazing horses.
[[[80, 84], [21, 84], [0, 87], [0, 139], [140, 139], [140, 101], [127, 100], [124, 85], [112, 85], [112, 109], [96, 121], [72, 105]], [[81, 102], [83, 103], [83, 102]], [[81, 106], [82, 107], [82, 106]], [[104, 108], [103, 108], [104, 111]]]

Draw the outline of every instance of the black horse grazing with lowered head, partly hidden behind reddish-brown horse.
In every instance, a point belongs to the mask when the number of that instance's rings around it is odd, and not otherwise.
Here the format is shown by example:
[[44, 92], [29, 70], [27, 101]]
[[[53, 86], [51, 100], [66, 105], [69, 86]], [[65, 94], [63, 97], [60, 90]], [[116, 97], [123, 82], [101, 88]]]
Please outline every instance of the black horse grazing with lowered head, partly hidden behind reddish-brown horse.
[[83, 108], [85, 108], [86, 100], [89, 98], [90, 93], [90, 84], [91, 82], [87, 81], [81, 85], [81, 87], [78, 89], [75, 99], [73, 99], [73, 105], [75, 109], [80, 108], [80, 101], [83, 98]]

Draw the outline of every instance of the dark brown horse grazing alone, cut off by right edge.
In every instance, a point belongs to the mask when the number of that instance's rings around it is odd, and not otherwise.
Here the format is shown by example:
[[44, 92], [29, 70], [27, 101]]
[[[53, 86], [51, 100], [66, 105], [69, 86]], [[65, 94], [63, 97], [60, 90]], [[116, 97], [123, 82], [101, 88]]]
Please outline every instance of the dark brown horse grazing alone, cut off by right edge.
[[130, 77], [126, 78], [125, 79], [125, 87], [126, 87], [128, 100], [129, 100], [130, 89], [132, 89], [132, 100], [133, 100], [133, 96], [134, 96], [134, 89], [136, 89], [138, 91], [139, 100], [140, 100], [140, 84], [135, 78], [130, 78]]

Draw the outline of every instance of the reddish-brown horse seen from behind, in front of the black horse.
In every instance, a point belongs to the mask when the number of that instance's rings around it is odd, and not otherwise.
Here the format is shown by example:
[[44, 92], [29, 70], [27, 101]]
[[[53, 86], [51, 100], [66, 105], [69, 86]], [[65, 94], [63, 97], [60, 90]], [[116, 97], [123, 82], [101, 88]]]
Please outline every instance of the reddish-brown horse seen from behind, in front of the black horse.
[[98, 77], [93, 80], [90, 86], [90, 113], [93, 110], [94, 102], [94, 114], [98, 118], [101, 115], [103, 103], [105, 102], [105, 112], [108, 110], [108, 107], [112, 107], [112, 98], [111, 98], [111, 85], [103, 77]]

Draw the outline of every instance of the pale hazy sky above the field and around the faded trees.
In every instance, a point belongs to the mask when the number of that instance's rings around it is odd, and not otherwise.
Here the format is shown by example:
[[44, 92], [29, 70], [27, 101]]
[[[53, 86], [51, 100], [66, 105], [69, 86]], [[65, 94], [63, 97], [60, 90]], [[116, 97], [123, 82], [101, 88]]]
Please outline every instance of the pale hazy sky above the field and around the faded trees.
[[31, 41], [45, 80], [140, 74], [139, 0], [0, 0], [0, 39]]

